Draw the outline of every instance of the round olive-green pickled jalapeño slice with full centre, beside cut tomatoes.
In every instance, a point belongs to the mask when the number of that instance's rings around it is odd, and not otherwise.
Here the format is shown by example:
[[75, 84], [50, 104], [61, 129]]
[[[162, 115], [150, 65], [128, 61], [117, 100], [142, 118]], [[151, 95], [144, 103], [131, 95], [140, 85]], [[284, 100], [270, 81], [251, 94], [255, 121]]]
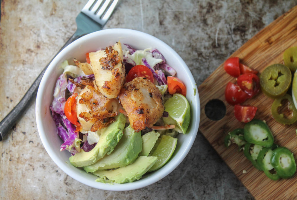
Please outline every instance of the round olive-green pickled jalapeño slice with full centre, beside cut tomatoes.
[[285, 95], [291, 84], [291, 71], [283, 64], [273, 64], [260, 75], [261, 90], [271, 98]]

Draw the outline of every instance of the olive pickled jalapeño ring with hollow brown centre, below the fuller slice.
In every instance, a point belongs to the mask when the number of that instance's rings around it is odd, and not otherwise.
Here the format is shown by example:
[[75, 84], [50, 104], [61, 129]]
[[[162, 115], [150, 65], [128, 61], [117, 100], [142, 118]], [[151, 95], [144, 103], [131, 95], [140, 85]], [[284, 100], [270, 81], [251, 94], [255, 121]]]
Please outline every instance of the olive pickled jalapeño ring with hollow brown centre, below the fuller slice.
[[282, 124], [293, 124], [297, 121], [297, 109], [293, 98], [285, 94], [274, 100], [271, 106], [271, 114], [277, 122]]

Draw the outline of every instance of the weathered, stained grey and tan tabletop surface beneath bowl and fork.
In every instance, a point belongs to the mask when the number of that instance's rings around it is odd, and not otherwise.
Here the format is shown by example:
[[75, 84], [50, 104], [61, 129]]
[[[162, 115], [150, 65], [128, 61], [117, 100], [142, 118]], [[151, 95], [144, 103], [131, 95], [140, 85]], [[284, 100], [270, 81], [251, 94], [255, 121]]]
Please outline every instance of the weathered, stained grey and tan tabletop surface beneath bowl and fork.
[[[76, 29], [81, 0], [2, 0], [0, 120]], [[104, 29], [128, 28], [170, 45], [200, 85], [224, 60], [296, 1], [122, 0]], [[198, 133], [189, 155], [146, 188], [110, 192], [67, 176], [42, 146], [35, 101], [0, 142], [0, 199], [253, 199]]]

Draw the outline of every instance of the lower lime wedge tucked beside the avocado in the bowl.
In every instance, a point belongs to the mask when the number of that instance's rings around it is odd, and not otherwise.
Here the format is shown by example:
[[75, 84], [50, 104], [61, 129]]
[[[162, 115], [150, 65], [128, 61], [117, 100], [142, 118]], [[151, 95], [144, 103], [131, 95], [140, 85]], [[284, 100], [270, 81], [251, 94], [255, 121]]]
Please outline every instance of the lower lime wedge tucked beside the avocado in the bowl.
[[152, 149], [150, 154], [150, 156], [156, 156], [157, 161], [149, 169], [149, 171], [155, 171], [167, 163], [176, 147], [177, 138], [162, 135], [162, 137], [158, 140], [159, 141], [156, 142], [155, 147]]

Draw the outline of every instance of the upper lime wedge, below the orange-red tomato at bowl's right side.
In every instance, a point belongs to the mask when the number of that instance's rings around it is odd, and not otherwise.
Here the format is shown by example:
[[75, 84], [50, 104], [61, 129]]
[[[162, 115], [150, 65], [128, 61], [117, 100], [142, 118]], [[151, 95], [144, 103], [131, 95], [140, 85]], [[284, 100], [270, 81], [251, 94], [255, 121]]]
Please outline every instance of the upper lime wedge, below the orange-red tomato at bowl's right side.
[[163, 121], [168, 125], [175, 125], [175, 130], [179, 133], [186, 133], [190, 121], [190, 105], [186, 97], [181, 94], [174, 94], [165, 104], [165, 111], [168, 117], [163, 117]]

